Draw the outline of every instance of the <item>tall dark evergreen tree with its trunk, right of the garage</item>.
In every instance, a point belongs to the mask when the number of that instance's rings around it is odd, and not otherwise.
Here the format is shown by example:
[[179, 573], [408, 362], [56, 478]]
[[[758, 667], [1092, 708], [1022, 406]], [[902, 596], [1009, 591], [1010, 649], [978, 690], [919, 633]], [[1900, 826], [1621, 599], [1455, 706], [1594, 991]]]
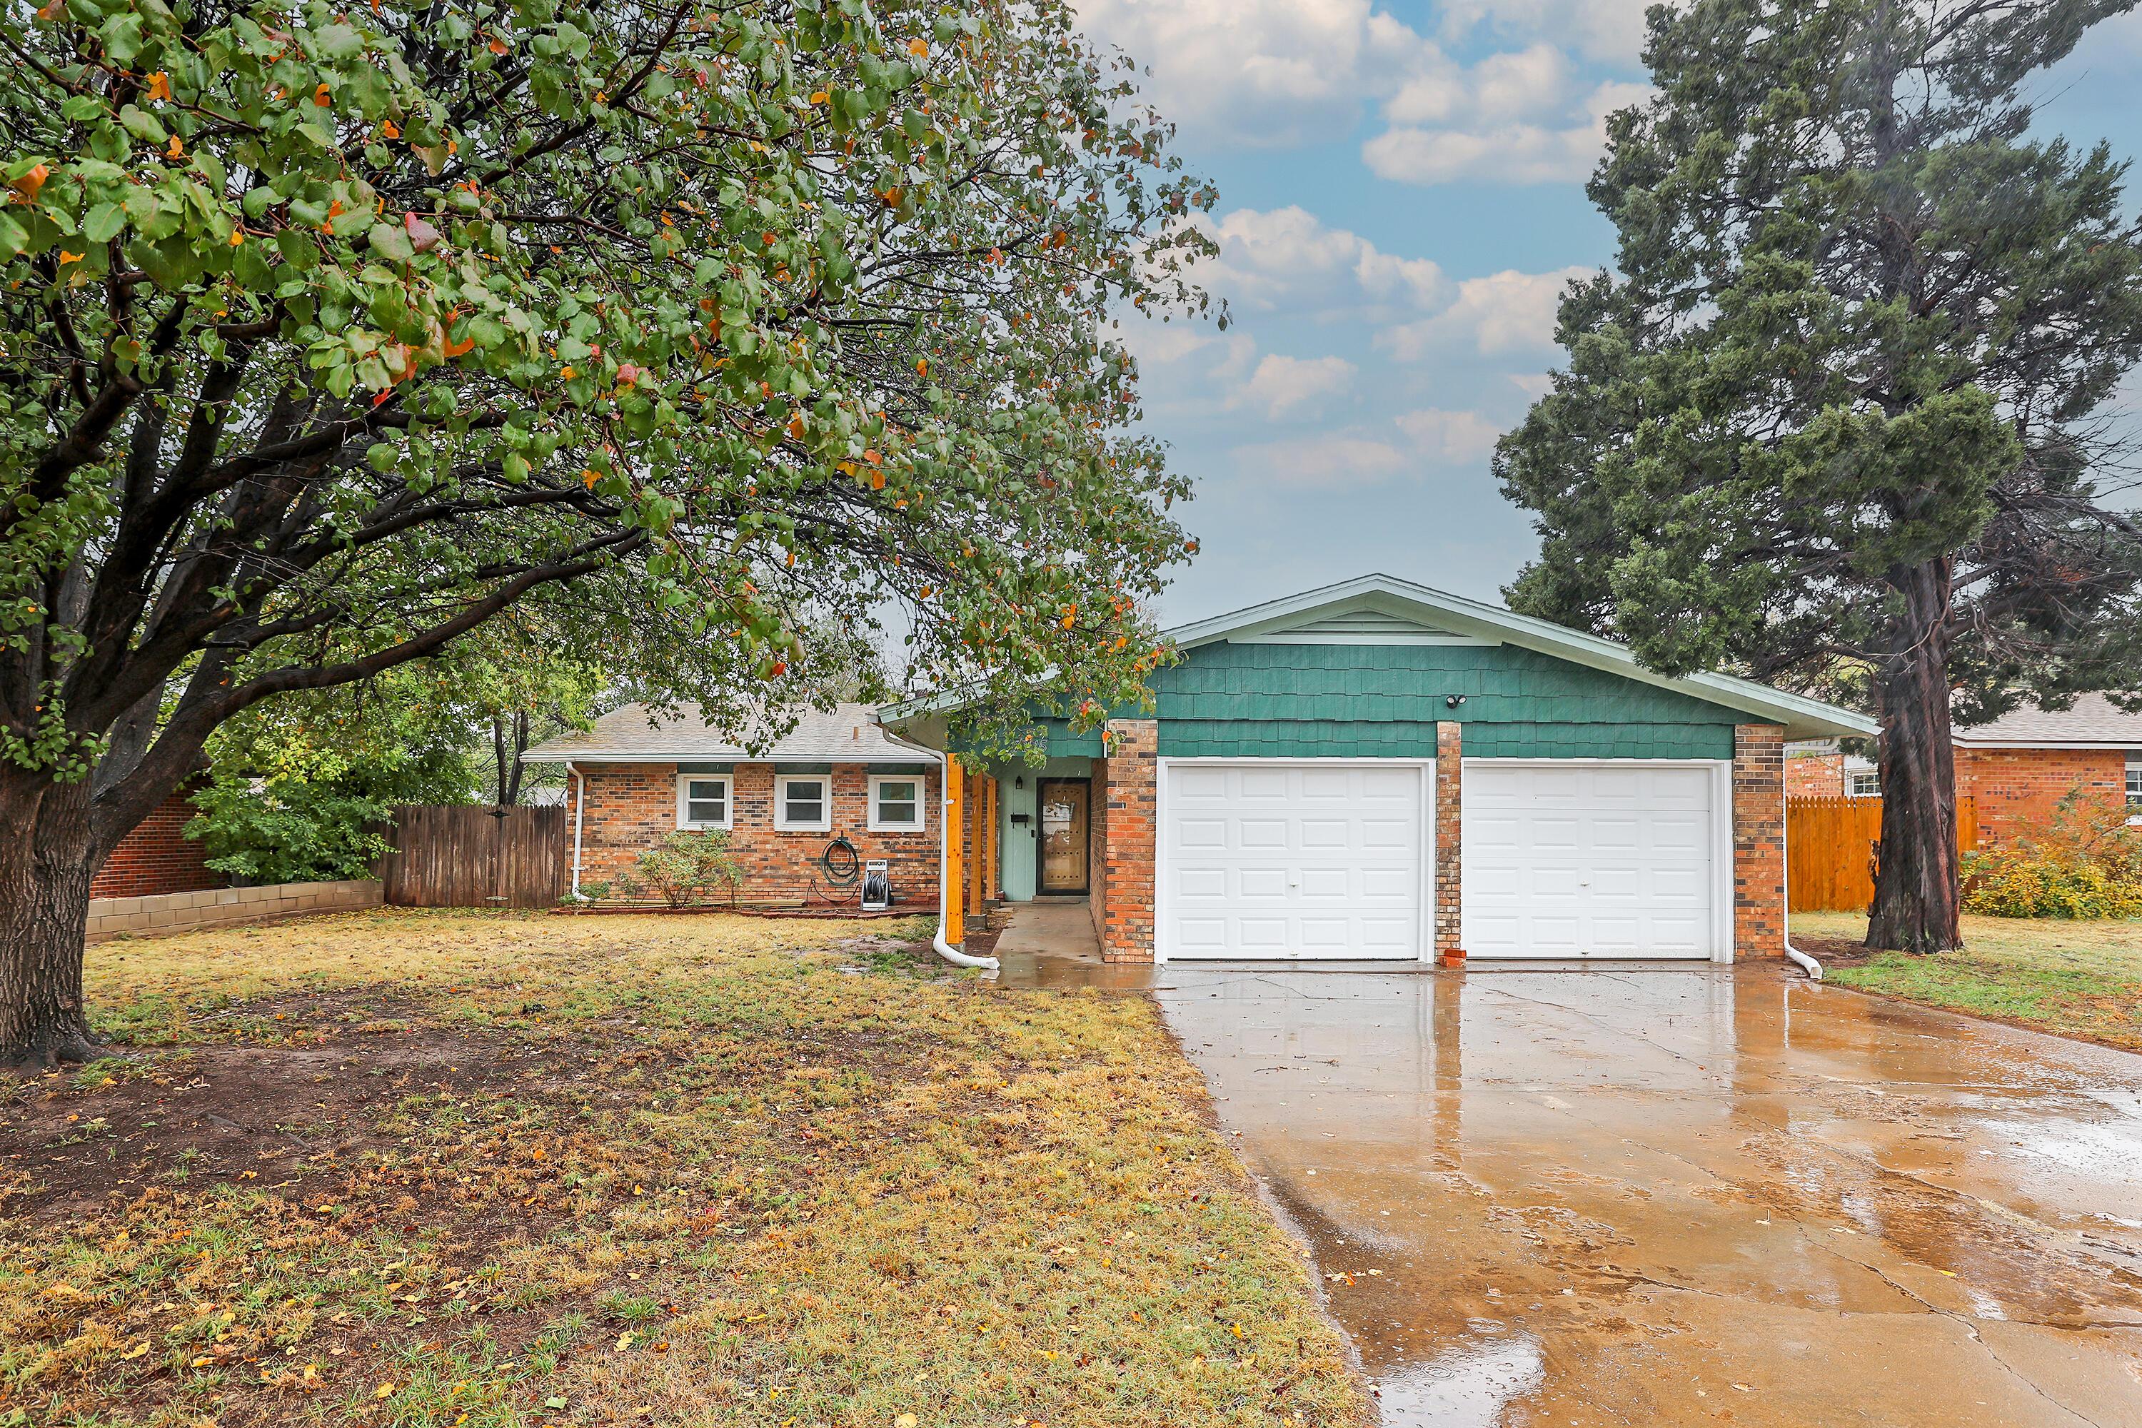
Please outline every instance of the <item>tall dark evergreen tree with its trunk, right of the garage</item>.
[[1958, 946], [1951, 711], [2133, 692], [2142, 533], [2108, 398], [2142, 355], [2127, 165], [2026, 88], [2133, 0], [1699, 0], [1592, 199], [1557, 373], [1497, 452], [1510, 587], [1662, 670], [1872, 700], [1868, 944]]

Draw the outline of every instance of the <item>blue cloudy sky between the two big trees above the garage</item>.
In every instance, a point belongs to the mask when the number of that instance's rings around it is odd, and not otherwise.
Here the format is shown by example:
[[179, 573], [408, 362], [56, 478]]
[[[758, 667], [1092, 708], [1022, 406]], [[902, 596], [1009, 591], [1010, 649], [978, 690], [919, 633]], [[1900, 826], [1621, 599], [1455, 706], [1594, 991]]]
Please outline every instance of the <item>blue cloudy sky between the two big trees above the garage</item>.
[[[1125, 325], [1200, 492], [1165, 623], [1373, 569], [1495, 599], [1525, 563], [1487, 458], [1559, 364], [1562, 283], [1613, 257], [1583, 180], [1645, 92], [1643, 9], [1082, 0], [1221, 193], [1206, 283], [1234, 325]], [[2129, 15], [2041, 79], [2041, 122], [2142, 154], [2138, 88]]]

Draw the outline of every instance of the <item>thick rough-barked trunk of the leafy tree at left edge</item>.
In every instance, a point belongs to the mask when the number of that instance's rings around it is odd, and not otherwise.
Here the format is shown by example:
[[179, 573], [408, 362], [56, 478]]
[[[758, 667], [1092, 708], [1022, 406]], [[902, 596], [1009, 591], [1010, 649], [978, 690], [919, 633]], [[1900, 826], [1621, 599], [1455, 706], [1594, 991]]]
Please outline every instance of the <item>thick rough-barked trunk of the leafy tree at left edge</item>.
[[99, 861], [88, 779], [0, 773], [0, 1064], [101, 1055], [81, 1000]]

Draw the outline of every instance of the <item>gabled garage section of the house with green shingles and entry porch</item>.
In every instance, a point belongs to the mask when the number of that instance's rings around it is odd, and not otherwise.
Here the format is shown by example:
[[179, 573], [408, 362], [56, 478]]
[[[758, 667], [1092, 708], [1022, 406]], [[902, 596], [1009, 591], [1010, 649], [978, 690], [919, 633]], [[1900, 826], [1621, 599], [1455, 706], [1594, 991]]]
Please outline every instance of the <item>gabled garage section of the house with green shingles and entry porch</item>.
[[1110, 961], [1778, 957], [1784, 741], [1874, 732], [1390, 576], [1172, 636], [1150, 707], [1037, 704], [1039, 764], [885, 711], [947, 751], [957, 910], [1084, 899]]

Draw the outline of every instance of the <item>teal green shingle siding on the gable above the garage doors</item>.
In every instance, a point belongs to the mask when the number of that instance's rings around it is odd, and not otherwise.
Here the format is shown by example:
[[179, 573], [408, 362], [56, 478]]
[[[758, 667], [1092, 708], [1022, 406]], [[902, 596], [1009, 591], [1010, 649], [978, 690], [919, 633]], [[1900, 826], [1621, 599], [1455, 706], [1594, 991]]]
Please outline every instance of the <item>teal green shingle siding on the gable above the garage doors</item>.
[[1472, 758], [1733, 758], [1746, 717], [1510, 644], [1202, 644], [1155, 698], [1174, 758], [1433, 758], [1439, 719]]

